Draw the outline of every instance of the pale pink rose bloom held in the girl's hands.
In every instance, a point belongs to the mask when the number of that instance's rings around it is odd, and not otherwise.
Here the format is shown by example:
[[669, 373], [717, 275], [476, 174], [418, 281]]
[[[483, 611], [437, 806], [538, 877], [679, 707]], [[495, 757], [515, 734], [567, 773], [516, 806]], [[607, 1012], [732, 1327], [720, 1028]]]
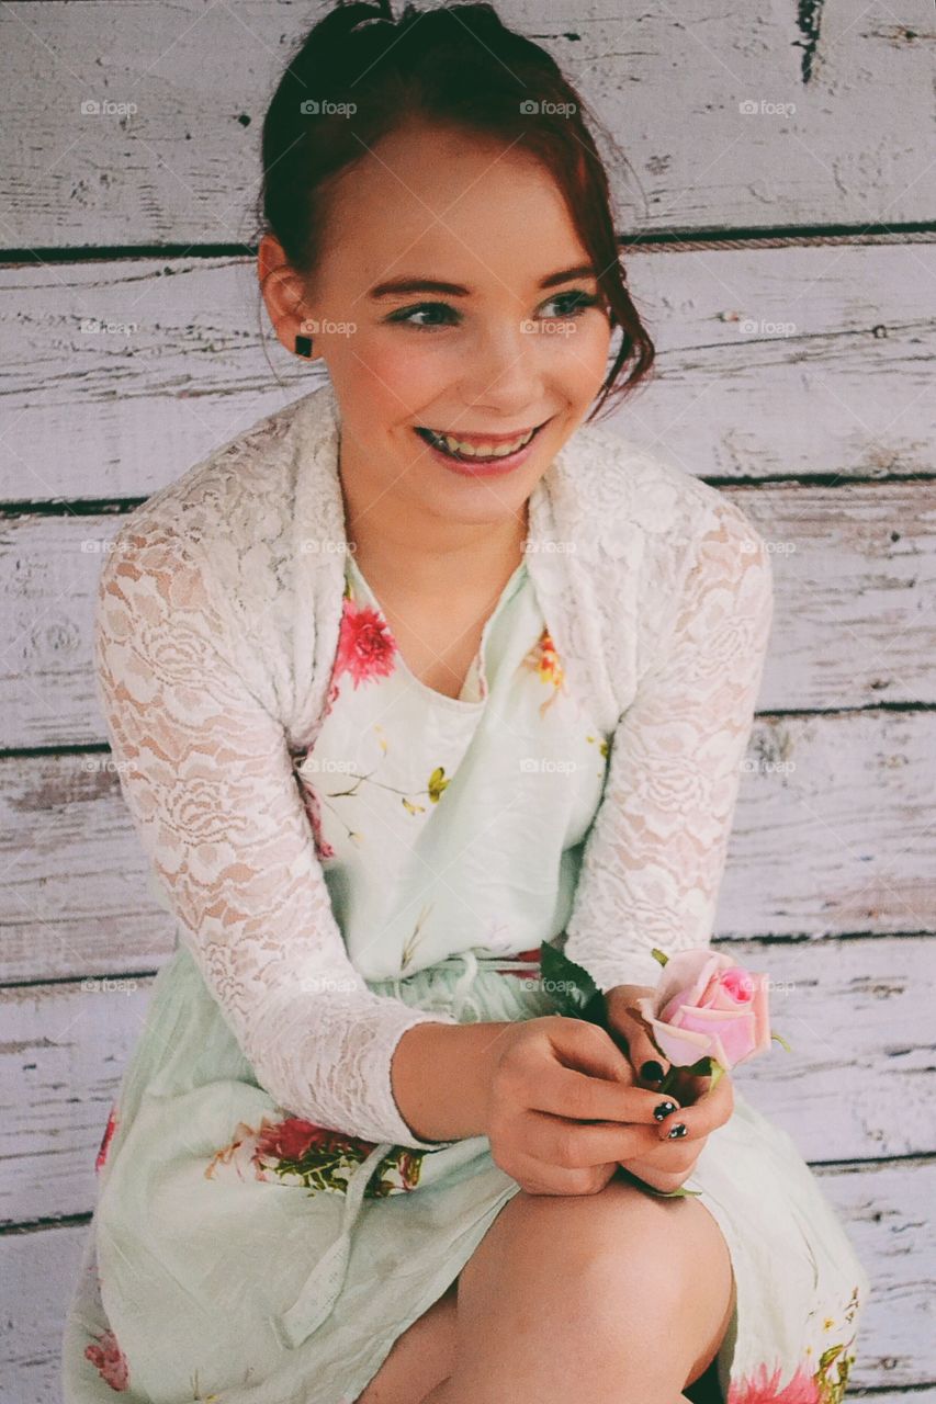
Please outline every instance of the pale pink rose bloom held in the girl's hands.
[[708, 946], [670, 956], [655, 993], [635, 1004], [675, 1067], [710, 1057], [729, 1071], [770, 1047], [767, 976]]

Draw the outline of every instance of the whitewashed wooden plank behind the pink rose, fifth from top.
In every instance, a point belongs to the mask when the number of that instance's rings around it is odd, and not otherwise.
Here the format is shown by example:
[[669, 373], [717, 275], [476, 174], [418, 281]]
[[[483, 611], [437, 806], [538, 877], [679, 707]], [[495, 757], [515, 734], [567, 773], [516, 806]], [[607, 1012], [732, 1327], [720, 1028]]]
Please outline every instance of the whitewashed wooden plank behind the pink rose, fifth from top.
[[[773, 1028], [791, 1049], [774, 1043], [735, 1080], [807, 1160], [933, 1148], [932, 939], [718, 949], [770, 976]], [[91, 1207], [94, 1158], [150, 990], [152, 977], [132, 974], [0, 990], [0, 1223]]]

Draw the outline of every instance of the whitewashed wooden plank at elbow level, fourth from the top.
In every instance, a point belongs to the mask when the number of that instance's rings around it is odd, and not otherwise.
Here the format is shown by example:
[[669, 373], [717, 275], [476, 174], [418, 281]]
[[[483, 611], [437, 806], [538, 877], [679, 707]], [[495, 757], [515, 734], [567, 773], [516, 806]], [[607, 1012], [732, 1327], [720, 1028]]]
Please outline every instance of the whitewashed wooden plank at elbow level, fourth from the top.
[[[936, 929], [935, 733], [933, 712], [758, 720], [715, 935]], [[146, 969], [170, 949], [112, 767], [107, 754], [0, 761], [0, 980]]]

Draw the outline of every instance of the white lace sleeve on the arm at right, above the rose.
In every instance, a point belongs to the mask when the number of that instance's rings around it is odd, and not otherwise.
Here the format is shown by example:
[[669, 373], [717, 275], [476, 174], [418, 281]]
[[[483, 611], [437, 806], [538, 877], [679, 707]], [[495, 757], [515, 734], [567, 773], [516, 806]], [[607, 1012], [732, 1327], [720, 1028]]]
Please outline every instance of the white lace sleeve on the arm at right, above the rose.
[[672, 955], [711, 941], [773, 573], [734, 503], [722, 498], [706, 521], [686, 556], [669, 637], [646, 643], [655, 661], [618, 720], [582, 855], [565, 953], [603, 991], [656, 984], [654, 946]]

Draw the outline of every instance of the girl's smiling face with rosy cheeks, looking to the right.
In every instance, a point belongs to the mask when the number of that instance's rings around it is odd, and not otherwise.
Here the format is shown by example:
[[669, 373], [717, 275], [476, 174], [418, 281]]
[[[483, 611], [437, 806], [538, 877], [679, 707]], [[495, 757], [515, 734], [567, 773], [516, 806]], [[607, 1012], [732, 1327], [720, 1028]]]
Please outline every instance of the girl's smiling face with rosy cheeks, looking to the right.
[[[358, 505], [409, 512], [415, 531], [520, 515], [606, 376], [611, 327], [587, 264], [548, 171], [496, 143], [409, 128], [347, 173], [304, 307]], [[486, 456], [486, 435], [530, 430], [496, 470], [426, 434]]]

